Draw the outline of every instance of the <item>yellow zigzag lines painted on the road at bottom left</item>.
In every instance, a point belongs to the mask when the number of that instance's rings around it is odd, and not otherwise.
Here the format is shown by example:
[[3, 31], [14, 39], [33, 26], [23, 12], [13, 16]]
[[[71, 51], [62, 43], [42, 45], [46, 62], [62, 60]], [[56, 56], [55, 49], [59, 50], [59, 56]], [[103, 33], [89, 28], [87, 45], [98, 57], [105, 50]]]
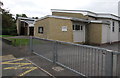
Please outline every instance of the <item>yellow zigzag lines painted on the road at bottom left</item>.
[[37, 67], [22, 67], [22, 66], [25, 66], [25, 65], [31, 65], [32, 63], [13, 63], [13, 62], [17, 62], [17, 61], [21, 61], [21, 60], [24, 60], [23, 58], [22, 59], [15, 59], [15, 60], [12, 60], [12, 61], [6, 61], [6, 62], [2, 62], [0, 64], [9, 64], [9, 65], [17, 65], [17, 66], [14, 66], [14, 67], [6, 67], [4, 68], [4, 70], [9, 70], [9, 69], [29, 69], [21, 74], [19, 74], [19, 76], [24, 76], [25, 74], [37, 69]]

